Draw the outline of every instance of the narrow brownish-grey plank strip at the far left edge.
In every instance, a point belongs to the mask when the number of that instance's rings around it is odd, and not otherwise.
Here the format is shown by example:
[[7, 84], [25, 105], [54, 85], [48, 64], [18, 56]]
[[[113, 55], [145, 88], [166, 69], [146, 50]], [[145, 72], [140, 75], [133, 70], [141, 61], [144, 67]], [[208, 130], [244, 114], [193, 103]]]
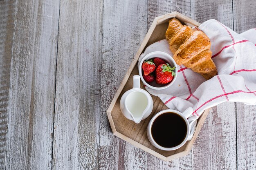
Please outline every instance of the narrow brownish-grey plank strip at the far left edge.
[[14, 1], [0, 1], [0, 169], [5, 168]]

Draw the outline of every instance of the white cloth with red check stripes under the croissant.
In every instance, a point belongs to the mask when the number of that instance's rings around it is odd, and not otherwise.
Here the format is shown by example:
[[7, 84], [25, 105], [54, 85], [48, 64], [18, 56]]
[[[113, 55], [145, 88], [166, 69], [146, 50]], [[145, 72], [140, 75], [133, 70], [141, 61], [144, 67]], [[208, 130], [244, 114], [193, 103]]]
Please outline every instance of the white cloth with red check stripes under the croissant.
[[[199, 117], [207, 108], [222, 102], [256, 104], [256, 29], [238, 34], [217, 20], [201, 24], [211, 40], [212, 59], [218, 75], [205, 80], [200, 74], [183, 65], [177, 66], [175, 82], [164, 90], [146, 90], [158, 96], [171, 109], [184, 111], [192, 107], [193, 115]], [[166, 39], [148, 46], [142, 57], [153, 51], [173, 56]], [[157, 57], [157, 56], [156, 56]], [[191, 134], [195, 130], [195, 125]]]

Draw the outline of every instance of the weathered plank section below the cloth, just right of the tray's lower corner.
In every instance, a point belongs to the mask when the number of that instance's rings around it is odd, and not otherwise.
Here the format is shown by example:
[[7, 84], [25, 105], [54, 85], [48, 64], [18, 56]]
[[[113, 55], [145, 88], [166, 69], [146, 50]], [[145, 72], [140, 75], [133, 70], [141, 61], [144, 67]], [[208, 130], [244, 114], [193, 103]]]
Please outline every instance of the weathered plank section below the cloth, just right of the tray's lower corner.
[[236, 169], [235, 103], [211, 109], [193, 146], [193, 169]]

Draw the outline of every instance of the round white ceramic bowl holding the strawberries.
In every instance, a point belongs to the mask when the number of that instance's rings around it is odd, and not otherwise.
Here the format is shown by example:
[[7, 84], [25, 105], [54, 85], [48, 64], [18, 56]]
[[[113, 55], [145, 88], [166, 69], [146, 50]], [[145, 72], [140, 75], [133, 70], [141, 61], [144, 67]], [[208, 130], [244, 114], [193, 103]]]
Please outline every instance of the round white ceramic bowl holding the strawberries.
[[[161, 58], [163, 60], [165, 60], [168, 64], [170, 64], [171, 67], [176, 67], [174, 72], [176, 73], [176, 76], [173, 78], [173, 80], [165, 85], [161, 85], [161, 84], [157, 84], [155, 81], [151, 82], [151, 83], [147, 83], [143, 76], [142, 76], [142, 64], [145, 60], [149, 60], [150, 58]], [[161, 51], [154, 51], [152, 53], [148, 53], [147, 55], [145, 55], [145, 57], [142, 58], [141, 62], [139, 63], [139, 76], [142, 80], [142, 82], [148, 86], [149, 88], [155, 89], [155, 90], [162, 90], [164, 88], [167, 88], [169, 86], [171, 86], [173, 84], [173, 82], [175, 82], [175, 79], [177, 78], [177, 64], [176, 62], [173, 60], [173, 57], [171, 57], [171, 55], [168, 55], [167, 53], [161, 52]]]

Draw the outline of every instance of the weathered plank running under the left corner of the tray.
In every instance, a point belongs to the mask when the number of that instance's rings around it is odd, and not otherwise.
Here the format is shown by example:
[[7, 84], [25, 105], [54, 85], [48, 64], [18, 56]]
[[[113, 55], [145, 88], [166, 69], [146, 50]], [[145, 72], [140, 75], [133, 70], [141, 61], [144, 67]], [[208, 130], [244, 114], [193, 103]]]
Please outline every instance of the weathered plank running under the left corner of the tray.
[[112, 134], [106, 110], [147, 31], [147, 0], [104, 0], [99, 169], [145, 169], [146, 152]]

